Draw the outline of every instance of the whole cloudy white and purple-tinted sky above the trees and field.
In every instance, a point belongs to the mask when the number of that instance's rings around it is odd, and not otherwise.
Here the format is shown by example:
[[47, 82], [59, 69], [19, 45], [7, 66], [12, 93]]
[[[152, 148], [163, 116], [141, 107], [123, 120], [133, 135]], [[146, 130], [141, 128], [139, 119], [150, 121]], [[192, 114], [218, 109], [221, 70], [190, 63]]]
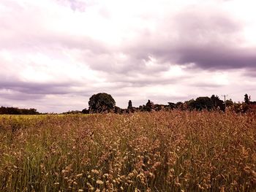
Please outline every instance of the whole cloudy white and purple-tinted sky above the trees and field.
[[255, 0], [1, 0], [0, 106], [256, 101]]

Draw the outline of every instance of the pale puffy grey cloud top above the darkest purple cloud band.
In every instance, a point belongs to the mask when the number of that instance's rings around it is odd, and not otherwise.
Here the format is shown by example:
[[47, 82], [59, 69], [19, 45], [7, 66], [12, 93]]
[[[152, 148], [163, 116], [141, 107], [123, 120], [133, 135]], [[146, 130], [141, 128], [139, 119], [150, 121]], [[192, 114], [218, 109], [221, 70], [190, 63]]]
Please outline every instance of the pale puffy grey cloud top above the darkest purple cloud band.
[[225, 12], [214, 8], [206, 10], [206, 7], [189, 7], [179, 12], [173, 20], [179, 42], [233, 42], [233, 37], [242, 27], [241, 23], [231, 19]]

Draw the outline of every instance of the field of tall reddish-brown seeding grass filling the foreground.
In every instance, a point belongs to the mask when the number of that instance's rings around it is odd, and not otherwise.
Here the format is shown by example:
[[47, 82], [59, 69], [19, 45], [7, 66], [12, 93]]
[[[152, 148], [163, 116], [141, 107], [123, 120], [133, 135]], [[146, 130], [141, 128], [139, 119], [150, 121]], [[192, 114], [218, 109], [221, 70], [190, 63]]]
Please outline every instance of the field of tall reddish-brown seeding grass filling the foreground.
[[255, 191], [256, 116], [0, 117], [0, 191]]

